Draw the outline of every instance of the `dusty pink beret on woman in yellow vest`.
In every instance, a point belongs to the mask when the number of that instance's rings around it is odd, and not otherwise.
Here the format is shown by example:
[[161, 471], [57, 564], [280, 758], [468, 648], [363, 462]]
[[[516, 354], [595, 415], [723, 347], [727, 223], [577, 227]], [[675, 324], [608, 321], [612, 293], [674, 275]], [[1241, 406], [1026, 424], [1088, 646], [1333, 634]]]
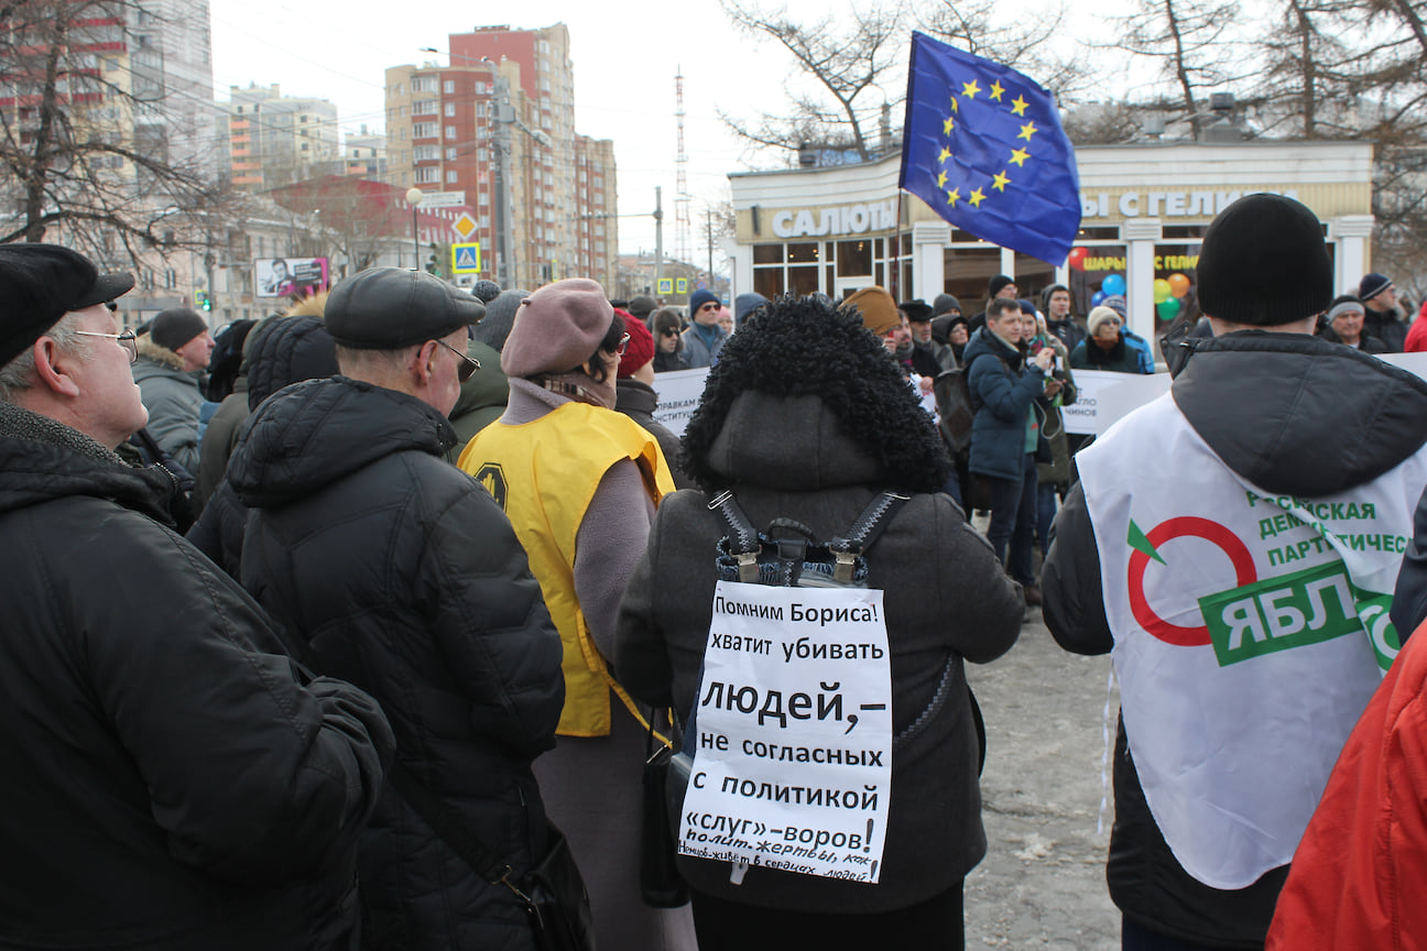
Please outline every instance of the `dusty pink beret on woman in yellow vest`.
[[609, 332], [615, 311], [588, 278], [547, 284], [521, 301], [501, 351], [507, 376], [564, 374], [581, 366]]

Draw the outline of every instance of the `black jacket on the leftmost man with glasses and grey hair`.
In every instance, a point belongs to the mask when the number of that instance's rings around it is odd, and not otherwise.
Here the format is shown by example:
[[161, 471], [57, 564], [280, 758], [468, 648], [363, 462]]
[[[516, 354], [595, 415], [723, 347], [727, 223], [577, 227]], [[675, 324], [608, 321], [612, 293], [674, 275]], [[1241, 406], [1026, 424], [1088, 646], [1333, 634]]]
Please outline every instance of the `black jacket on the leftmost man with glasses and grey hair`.
[[171, 489], [0, 403], [0, 947], [348, 947], [391, 730], [298, 684]]

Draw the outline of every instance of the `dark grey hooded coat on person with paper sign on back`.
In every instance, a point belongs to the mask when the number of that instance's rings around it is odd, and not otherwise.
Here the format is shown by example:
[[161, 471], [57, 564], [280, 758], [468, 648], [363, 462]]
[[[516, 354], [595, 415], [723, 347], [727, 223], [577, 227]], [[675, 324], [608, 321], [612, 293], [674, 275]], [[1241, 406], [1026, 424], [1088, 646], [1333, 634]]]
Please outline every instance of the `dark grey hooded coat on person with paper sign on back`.
[[[849, 529], [885, 471], [815, 395], [738, 396], [709, 463], [733, 486], [755, 526], [791, 518], [829, 539]], [[709, 496], [675, 492], [659, 506], [649, 549], [619, 612], [615, 672], [634, 696], [688, 713], [712, 617], [715, 545], [728, 533]], [[892, 757], [892, 800], [880, 883], [749, 868], [729, 884], [728, 863], [679, 858], [696, 890], [796, 911], [882, 913], [959, 884], [986, 853], [976, 774], [977, 739], [962, 660], [986, 663], [1020, 633], [1020, 589], [942, 493], [913, 495], [868, 553], [869, 585], [886, 592], [893, 730], [923, 711], [952, 659], [950, 697], [930, 726]], [[781, 662], [779, 662], [781, 663]]]

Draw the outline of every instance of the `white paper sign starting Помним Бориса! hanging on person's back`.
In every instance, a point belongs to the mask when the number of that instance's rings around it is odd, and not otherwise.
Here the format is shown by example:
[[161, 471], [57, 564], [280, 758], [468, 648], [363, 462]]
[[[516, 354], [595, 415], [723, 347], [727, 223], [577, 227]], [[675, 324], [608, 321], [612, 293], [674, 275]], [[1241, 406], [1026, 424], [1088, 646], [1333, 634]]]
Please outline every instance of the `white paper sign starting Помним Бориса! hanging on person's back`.
[[681, 854], [878, 881], [892, 790], [880, 590], [719, 582], [692, 726]]

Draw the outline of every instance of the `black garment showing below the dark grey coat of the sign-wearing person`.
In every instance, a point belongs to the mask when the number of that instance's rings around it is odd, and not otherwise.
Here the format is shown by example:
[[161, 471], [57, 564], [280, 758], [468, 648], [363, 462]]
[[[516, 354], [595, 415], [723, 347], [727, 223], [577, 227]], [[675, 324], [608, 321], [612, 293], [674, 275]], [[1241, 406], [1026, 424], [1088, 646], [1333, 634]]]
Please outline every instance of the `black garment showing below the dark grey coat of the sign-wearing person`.
[[963, 951], [963, 883], [906, 908], [879, 914], [782, 911], [694, 893], [699, 951]]

